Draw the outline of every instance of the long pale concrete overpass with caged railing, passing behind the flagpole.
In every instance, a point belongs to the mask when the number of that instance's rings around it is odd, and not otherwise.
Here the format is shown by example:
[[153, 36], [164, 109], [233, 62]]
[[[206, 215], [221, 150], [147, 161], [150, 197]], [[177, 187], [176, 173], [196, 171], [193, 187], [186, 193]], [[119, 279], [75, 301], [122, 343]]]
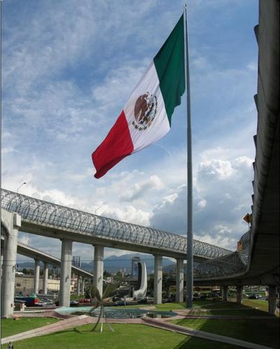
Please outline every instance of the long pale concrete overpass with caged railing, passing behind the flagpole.
[[[97, 216], [3, 188], [1, 207], [21, 216], [22, 232], [170, 258], [186, 258], [186, 237], [171, 232]], [[193, 250], [196, 262], [231, 252], [198, 240], [193, 241]]]

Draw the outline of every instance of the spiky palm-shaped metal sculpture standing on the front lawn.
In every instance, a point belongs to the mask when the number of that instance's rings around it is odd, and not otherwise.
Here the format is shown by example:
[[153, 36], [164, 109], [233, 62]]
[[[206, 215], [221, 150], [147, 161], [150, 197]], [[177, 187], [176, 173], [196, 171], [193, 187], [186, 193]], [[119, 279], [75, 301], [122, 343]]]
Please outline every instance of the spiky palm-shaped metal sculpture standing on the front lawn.
[[112, 327], [110, 326], [110, 324], [107, 322], [106, 317], [105, 317], [105, 313], [104, 313], [104, 304], [109, 302], [110, 299], [112, 297], [108, 297], [113, 291], [115, 291], [116, 288], [118, 288], [119, 285], [115, 284], [115, 283], [110, 283], [105, 292], [103, 293], [103, 296], [101, 297], [98, 289], [96, 288], [95, 285], [91, 286], [91, 297], [94, 299], [94, 302], [96, 302], [96, 304], [90, 309], [89, 314], [93, 313], [95, 311], [95, 309], [98, 308], [98, 306], [100, 306], [100, 313], [98, 316], [98, 320], [94, 326], [93, 329], [91, 329], [91, 331], [94, 331], [98, 325], [98, 323], [101, 320], [101, 329], [100, 332], [103, 332], [103, 319], [105, 320], [106, 324], [108, 325], [109, 329], [111, 331], [114, 331], [114, 329], [112, 329]]

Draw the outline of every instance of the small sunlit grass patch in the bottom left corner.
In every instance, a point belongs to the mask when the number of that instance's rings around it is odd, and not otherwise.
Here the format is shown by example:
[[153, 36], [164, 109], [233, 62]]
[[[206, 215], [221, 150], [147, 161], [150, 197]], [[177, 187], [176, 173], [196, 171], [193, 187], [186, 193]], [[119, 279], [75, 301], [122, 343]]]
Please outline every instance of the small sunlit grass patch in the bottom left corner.
[[29, 329], [42, 327], [57, 321], [59, 320], [54, 318], [1, 319], [1, 338], [13, 336], [13, 334], [29, 331]]

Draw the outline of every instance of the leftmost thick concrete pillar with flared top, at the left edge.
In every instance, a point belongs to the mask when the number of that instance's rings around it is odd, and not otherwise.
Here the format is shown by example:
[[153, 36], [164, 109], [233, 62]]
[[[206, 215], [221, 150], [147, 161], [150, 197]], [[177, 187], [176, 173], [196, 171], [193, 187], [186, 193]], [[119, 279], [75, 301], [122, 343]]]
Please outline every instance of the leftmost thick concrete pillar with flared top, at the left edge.
[[1, 228], [5, 232], [1, 282], [1, 317], [13, 316], [15, 296], [15, 266], [17, 261], [17, 235], [21, 226], [21, 216], [1, 210]]

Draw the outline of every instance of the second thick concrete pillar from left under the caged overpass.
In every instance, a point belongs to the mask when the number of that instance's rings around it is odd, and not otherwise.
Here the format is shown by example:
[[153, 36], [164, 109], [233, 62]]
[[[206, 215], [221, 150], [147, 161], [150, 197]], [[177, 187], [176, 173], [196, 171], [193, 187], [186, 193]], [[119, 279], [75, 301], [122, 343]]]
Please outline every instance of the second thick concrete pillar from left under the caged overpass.
[[71, 240], [61, 239], [59, 306], [70, 306], [72, 245]]

